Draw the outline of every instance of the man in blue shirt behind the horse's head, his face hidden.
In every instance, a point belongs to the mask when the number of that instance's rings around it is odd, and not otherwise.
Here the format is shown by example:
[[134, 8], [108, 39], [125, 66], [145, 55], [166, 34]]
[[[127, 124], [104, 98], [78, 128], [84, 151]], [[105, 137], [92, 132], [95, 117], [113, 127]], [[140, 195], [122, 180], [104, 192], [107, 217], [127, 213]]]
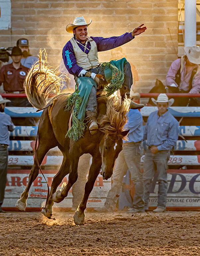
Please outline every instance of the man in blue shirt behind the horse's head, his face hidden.
[[139, 110], [130, 109], [125, 129], [130, 130], [127, 135], [128, 140], [123, 141], [123, 150], [116, 159], [111, 189], [108, 192], [104, 206], [95, 208], [96, 211], [114, 211], [118, 200], [117, 195], [119, 195], [122, 188], [123, 177], [129, 169], [135, 186], [133, 208], [129, 209], [129, 213], [144, 212], [144, 184], [140, 170], [141, 156], [143, 155], [143, 118]]

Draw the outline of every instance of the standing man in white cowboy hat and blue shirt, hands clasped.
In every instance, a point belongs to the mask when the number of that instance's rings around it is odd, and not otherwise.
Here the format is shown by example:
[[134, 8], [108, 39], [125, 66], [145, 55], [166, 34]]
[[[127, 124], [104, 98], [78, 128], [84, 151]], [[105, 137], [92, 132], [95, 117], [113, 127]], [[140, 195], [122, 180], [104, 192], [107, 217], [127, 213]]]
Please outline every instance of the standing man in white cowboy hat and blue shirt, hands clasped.
[[174, 99], [168, 100], [160, 93], [157, 100], [151, 98], [158, 110], [150, 113], [144, 130], [144, 140], [147, 140], [147, 152], [144, 160], [144, 200], [145, 211], [148, 211], [151, 181], [154, 173], [158, 174], [158, 203], [153, 212], [163, 212], [167, 198], [167, 162], [170, 148], [178, 139], [178, 122], [167, 110]]

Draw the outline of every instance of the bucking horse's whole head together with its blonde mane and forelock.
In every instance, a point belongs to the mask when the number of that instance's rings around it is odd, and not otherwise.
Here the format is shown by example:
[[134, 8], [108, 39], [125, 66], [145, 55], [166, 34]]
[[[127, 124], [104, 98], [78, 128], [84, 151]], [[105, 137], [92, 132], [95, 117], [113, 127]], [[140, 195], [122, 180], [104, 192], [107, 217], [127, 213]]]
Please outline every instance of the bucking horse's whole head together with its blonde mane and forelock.
[[104, 133], [99, 151], [102, 157], [102, 176], [105, 180], [112, 176], [115, 160], [122, 150], [122, 140], [129, 132], [123, 131], [129, 107], [130, 100], [127, 98], [122, 102], [116, 96], [107, 99], [106, 113], [98, 120], [99, 130]]

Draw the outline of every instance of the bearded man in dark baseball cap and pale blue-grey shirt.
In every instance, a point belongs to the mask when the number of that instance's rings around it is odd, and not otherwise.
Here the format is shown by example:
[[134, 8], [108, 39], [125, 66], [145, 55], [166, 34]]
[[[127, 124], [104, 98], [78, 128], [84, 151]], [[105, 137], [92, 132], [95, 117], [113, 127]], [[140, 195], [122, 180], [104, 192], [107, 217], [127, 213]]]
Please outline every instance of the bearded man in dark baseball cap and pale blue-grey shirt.
[[30, 69], [31, 66], [38, 61], [38, 58], [30, 54], [29, 40], [26, 38], [20, 38], [17, 40], [17, 46], [22, 50], [21, 64]]

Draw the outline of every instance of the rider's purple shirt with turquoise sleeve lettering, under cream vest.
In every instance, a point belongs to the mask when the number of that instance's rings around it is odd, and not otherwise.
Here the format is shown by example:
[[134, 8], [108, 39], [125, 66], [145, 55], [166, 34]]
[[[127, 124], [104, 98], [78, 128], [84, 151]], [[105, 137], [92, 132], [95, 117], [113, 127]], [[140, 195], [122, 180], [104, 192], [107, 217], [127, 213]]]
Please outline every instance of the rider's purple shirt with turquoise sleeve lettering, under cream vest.
[[[113, 48], [116, 48], [118, 46], [121, 46], [123, 44], [126, 44], [130, 42], [134, 37], [130, 33], [125, 33], [121, 36], [112, 36], [108, 38], [104, 37], [94, 37], [91, 36], [91, 38], [95, 41], [97, 45], [98, 52], [103, 52], [107, 50], [111, 50]], [[77, 40], [78, 41], [78, 40]], [[79, 41], [80, 42], [80, 41]], [[82, 43], [78, 44], [81, 50], [84, 51], [84, 46]], [[89, 50], [91, 49], [90, 42], [87, 43], [86, 46]], [[89, 50], [85, 50], [85, 53], [88, 54]], [[67, 52], [67, 57], [65, 52]], [[65, 67], [67, 68], [68, 72], [74, 76], [78, 76], [83, 68], [79, 67], [76, 64], [76, 57], [74, 54], [73, 46], [70, 41], [68, 41], [63, 50], [62, 50], [62, 58], [65, 64]]]

